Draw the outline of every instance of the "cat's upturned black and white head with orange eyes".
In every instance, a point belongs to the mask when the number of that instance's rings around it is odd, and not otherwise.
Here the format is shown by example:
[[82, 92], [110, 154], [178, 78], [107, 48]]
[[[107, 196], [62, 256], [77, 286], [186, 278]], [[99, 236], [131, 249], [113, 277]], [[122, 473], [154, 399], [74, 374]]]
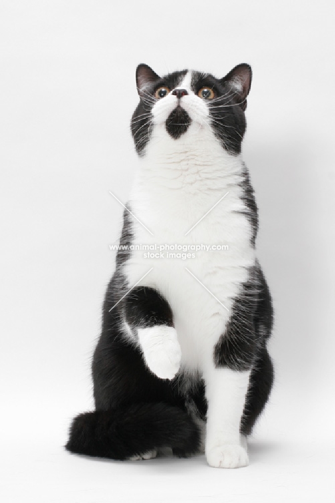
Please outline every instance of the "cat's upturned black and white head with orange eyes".
[[140, 103], [131, 120], [137, 153], [145, 155], [153, 136], [196, 143], [199, 135], [209, 132], [229, 153], [240, 153], [251, 79], [251, 68], [244, 63], [220, 79], [194, 70], [160, 77], [140, 64], [136, 69]]

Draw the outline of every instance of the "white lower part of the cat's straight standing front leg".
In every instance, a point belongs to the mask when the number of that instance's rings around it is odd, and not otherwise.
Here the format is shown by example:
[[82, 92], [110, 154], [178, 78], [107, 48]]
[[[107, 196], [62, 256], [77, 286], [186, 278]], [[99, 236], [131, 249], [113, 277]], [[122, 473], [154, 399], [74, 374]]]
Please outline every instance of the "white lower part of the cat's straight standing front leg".
[[250, 371], [211, 368], [206, 372], [208, 401], [206, 459], [210, 466], [238, 468], [248, 464], [245, 438], [240, 423]]

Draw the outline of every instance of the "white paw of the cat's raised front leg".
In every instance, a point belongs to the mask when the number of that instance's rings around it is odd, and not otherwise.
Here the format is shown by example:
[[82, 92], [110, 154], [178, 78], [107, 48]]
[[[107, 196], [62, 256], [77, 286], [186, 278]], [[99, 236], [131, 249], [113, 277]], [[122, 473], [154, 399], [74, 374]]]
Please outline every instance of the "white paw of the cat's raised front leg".
[[160, 379], [173, 379], [182, 358], [176, 329], [166, 325], [139, 328], [138, 337], [151, 372]]

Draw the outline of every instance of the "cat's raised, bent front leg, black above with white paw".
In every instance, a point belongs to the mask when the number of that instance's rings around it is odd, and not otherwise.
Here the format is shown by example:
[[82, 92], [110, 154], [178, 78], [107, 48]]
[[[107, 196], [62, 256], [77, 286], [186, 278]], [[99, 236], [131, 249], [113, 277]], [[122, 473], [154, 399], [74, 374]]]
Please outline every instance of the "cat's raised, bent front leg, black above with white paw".
[[125, 312], [149, 370], [160, 379], [173, 379], [182, 353], [169, 303], [155, 289], [140, 286], [126, 299]]

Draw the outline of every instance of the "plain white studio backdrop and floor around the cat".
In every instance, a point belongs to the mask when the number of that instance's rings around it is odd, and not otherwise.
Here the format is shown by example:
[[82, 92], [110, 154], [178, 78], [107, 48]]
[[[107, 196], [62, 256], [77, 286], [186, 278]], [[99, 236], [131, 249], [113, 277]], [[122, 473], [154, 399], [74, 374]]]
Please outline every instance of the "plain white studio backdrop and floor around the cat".
[[[334, 501], [332, 3], [0, 2], [1, 484], [38, 503]], [[276, 384], [250, 466], [66, 453], [136, 170], [135, 68], [254, 70], [243, 154]]]

